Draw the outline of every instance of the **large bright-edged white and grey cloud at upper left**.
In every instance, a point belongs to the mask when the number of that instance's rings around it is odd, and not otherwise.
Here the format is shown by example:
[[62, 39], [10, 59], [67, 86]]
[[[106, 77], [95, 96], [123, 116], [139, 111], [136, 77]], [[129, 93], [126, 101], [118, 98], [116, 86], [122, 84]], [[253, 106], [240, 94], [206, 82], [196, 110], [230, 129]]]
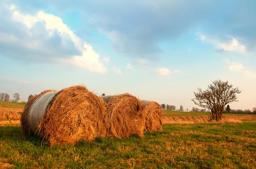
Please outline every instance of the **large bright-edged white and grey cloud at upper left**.
[[0, 9], [0, 54], [29, 62], [65, 62], [92, 72], [107, 72], [99, 54], [61, 18], [42, 11], [23, 14], [14, 5]]

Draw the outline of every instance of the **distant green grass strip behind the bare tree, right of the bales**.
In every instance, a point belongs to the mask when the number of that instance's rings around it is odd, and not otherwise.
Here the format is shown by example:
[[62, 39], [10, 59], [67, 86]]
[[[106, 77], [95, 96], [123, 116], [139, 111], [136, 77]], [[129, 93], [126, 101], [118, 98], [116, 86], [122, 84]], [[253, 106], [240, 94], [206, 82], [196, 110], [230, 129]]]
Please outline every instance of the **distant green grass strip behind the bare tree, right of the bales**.
[[[163, 110], [163, 116], [167, 117], [180, 117], [180, 116], [197, 116], [197, 115], [207, 115], [204, 112], [180, 112], [180, 111], [172, 111], [172, 110]], [[229, 114], [224, 113], [223, 115], [253, 115], [253, 114]]]

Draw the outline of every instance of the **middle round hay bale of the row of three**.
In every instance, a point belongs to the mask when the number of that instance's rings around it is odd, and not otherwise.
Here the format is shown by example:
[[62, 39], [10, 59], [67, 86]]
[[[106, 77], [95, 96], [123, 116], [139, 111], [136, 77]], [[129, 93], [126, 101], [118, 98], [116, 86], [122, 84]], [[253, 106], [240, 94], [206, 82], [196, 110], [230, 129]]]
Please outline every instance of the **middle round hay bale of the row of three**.
[[143, 137], [144, 115], [142, 105], [135, 96], [125, 93], [112, 96], [106, 104], [106, 130], [111, 138]]

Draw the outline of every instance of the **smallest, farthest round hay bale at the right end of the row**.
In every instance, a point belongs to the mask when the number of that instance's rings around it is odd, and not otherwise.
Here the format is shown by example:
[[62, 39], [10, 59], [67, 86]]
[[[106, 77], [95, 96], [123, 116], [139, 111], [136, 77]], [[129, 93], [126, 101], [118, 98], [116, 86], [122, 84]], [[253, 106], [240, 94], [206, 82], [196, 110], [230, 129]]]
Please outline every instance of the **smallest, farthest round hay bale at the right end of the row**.
[[143, 109], [145, 114], [145, 131], [154, 132], [163, 130], [163, 110], [155, 101], [149, 102]]

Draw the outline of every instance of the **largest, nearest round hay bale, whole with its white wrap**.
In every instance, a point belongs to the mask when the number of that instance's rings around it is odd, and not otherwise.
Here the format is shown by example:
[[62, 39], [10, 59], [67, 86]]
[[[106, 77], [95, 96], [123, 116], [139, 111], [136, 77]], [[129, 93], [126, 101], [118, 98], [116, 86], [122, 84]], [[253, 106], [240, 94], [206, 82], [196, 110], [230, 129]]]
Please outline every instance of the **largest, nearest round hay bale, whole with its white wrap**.
[[40, 135], [50, 146], [105, 137], [105, 103], [84, 86], [47, 90], [29, 99], [21, 114], [26, 137]]

